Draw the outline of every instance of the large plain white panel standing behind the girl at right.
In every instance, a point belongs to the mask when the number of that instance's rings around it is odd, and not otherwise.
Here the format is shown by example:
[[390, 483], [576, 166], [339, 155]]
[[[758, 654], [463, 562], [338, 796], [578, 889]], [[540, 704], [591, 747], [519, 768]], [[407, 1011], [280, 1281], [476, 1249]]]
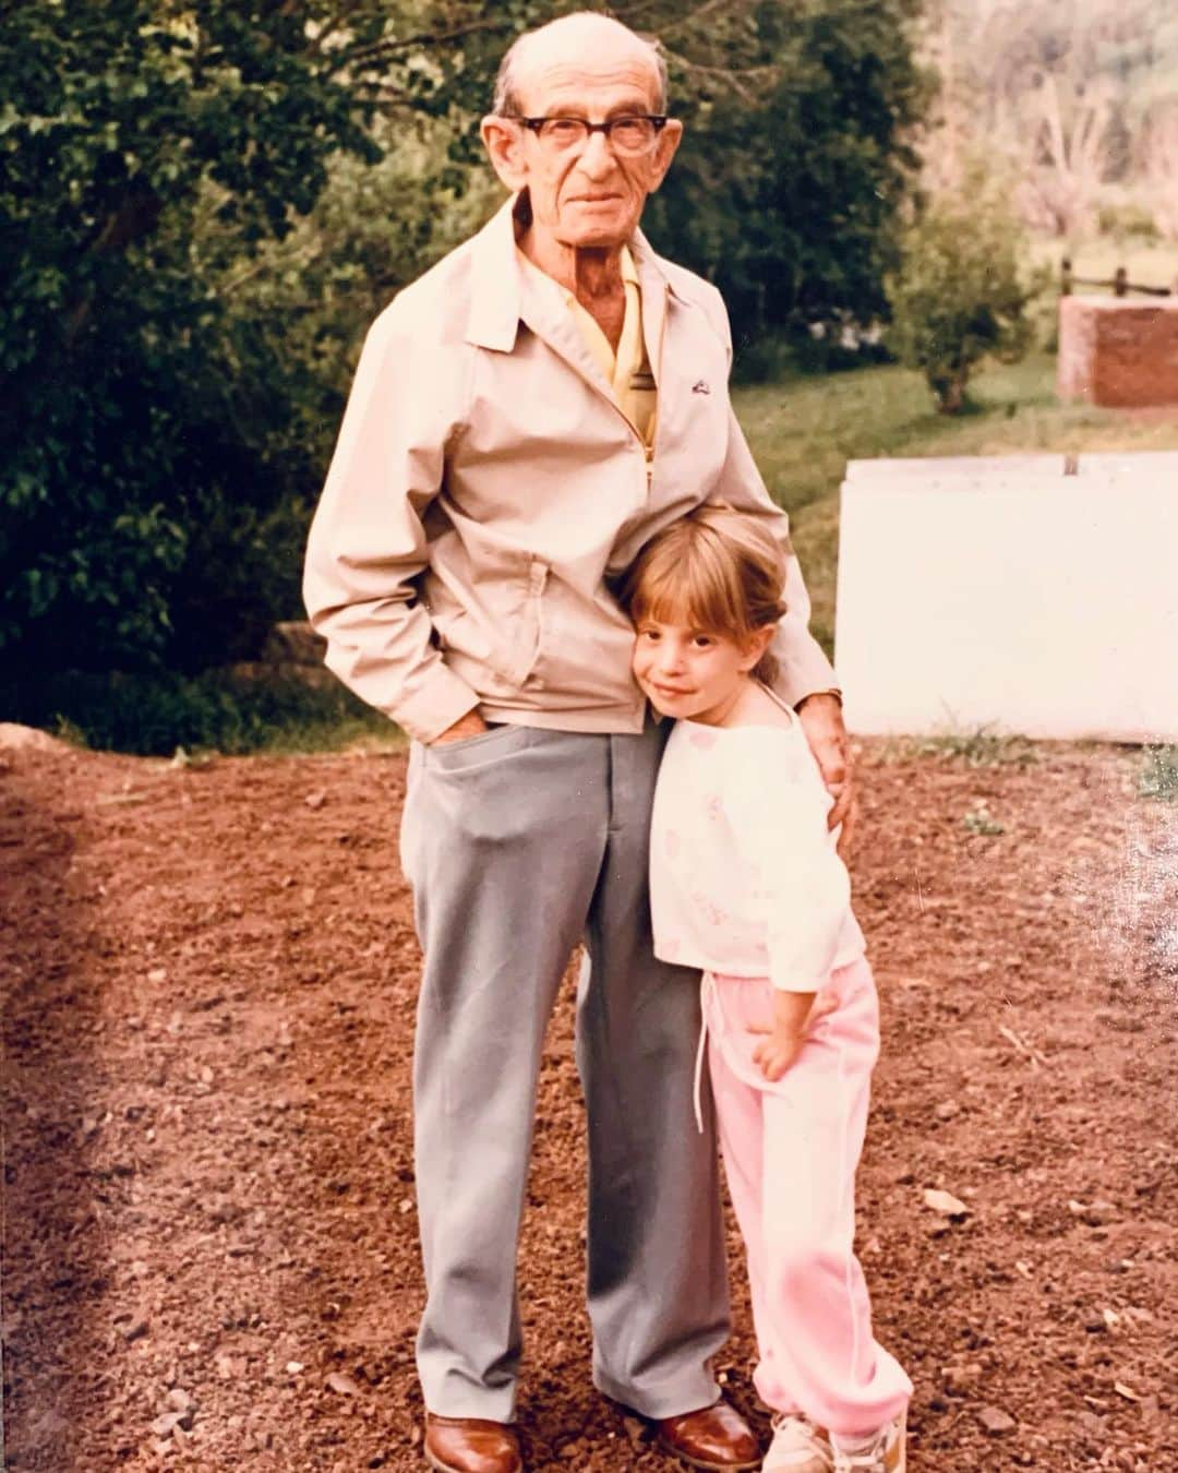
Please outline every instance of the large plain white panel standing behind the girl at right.
[[853, 463], [835, 653], [851, 731], [1178, 741], [1178, 454]]

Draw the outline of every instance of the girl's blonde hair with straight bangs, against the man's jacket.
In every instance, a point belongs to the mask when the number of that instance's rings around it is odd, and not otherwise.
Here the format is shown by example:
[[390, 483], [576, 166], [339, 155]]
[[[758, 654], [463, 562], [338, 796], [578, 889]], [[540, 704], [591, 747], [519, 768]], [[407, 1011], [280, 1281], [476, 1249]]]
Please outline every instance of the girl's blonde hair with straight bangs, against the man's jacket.
[[[785, 613], [785, 555], [760, 517], [730, 507], [699, 507], [642, 548], [618, 600], [635, 623], [691, 625], [744, 645]], [[777, 661], [766, 651], [752, 669], [770, 683]]]

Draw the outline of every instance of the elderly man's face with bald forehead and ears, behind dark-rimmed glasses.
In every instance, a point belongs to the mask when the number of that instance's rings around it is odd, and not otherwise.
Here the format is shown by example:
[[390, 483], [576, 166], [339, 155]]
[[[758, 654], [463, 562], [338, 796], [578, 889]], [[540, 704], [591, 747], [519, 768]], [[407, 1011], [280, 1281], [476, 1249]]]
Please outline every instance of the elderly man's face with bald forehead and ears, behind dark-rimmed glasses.
[[[535, 47], [517, 80], [523, 115], [607, 122], [657, 113], [658, 77], [648, 55], [632, 43], [624, 34], [610, 38], [592, 56], [576, 55], [567, 37]], [[521, 124], [502, 127], [498, 149], [484, 127], [501, 178], [511, 189], [527, 189], [533, 230], [574, 249], [608, 249], [630, 239], [680, 134], [680, 125], [669, 122], [652, 147], [635, 156], [616, 150], [602, 133], [561, 149]]]

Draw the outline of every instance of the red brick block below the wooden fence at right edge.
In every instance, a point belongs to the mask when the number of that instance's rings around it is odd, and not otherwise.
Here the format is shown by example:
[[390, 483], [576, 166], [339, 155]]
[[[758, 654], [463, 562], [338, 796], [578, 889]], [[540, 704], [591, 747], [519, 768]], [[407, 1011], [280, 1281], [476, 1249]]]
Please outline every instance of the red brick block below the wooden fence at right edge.
[[1178, 407], [1178, 298], [1060, 298], [1059, 393], [1113, 408]]

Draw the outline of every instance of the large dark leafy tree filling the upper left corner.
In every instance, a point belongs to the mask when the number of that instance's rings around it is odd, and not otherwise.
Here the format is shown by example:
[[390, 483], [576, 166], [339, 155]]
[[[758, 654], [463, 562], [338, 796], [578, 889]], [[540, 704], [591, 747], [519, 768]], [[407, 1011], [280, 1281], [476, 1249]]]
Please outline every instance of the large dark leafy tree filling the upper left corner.
[[318, 426], [339, 418], [342, 376], [324, 371], [339, 345], [300, 336], [305, 300], [267, 303], [250, 271], [342, 158], [377, 165], [378, 118], [473, 106], [535, 9], [4, 6], [9, 669], [233, 658], [275, 601], [293, 601], [297, 560], [281, 569], [272, 546], [300, 536]]

